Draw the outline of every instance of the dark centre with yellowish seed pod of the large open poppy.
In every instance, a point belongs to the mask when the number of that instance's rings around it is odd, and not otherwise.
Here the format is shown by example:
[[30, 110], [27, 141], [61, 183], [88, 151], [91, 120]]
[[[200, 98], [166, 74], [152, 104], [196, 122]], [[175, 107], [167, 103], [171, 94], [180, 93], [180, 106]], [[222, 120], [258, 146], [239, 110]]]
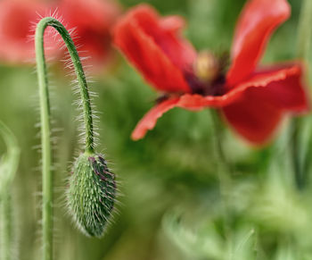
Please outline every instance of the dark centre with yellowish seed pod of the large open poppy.
[[193, 67], [185, 71], [185, 80], [192, 88], [192, 93], [202, 96], [224, 95], [227, 63], [227, 54], [217, 57], [208, 51], [201, 52]]

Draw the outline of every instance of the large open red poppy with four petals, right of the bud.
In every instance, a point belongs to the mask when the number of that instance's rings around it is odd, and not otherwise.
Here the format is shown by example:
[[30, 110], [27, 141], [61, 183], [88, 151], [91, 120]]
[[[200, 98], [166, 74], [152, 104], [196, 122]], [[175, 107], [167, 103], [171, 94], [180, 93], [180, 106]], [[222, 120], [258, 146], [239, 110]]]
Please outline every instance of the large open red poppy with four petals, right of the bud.
[[181, 18], [162, 18], [146, 4], [127, 13], [114, 29], [115, 45], [145, 80], [165, 93], [132, 138], [143, 138], [174, 107], [213, 107], [243, 138], [260, 145], [272, 137], [284, 113], [308, 110], [299, 63], [257, 66], [267, 40], [290, 13], [285, 0], [248, 1], [235, 29], [227, 72], [224, 58], [197, 54], [180, 36]]

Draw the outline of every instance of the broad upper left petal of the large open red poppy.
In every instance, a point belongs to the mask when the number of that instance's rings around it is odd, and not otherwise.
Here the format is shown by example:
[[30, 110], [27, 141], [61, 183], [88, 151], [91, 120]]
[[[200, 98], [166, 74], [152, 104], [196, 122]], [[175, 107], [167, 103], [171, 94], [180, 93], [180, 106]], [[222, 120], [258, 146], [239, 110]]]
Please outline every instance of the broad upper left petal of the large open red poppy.
[[119, 21], [114, 42], [155, 88], [190, 92], [183, 69], [193, 63], [193, 47], [177, 36], [181, 21], [161, 19], [148, 5], [139, 5]]

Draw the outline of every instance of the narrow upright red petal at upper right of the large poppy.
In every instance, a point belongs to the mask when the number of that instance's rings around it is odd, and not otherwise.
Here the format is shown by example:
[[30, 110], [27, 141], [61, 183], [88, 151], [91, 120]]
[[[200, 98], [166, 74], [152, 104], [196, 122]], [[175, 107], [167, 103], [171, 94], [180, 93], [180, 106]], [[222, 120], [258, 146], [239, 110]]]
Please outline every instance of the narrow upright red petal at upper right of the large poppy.
[[234, 34], [233, 63], [227, 73], [230, 86], [254, 71], [270, 35], [290, 14], [286, 0], [250, 0], [245, 5]]

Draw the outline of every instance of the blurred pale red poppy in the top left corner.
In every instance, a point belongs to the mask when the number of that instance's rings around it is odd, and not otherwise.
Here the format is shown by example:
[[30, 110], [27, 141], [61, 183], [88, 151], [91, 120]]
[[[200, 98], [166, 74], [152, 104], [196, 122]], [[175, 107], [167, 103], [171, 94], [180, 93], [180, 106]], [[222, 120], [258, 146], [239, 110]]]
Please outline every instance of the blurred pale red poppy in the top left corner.
[[[34, 0], [3, 0], [0, 1], [0, 60], [6, 63], [34, 63], [35, 48], [33, 23], [39, 14], [51, 10], [51, 5]], [[45, 38], [48, 47], [46, 55], [53, 56], [59, 52], [53, 47], [53, 38]]]

